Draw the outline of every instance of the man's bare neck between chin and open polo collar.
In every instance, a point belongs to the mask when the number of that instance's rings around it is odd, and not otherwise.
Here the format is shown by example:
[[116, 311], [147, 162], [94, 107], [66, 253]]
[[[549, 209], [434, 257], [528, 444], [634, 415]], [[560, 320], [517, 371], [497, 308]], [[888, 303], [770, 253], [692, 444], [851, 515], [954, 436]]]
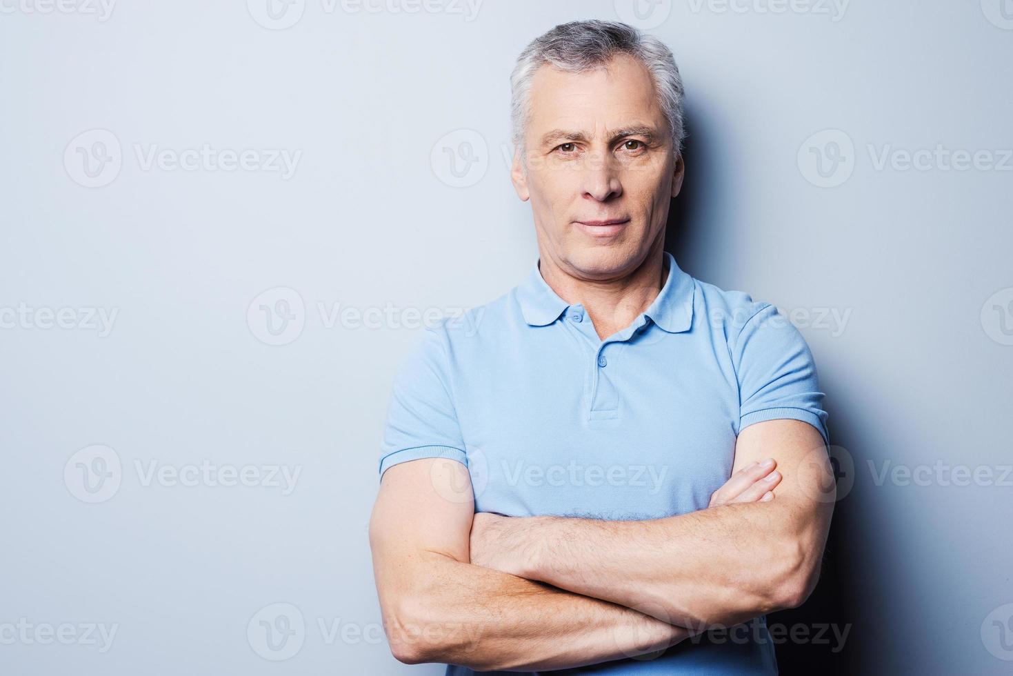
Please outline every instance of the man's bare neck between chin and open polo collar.
[[541, 257], [539, 272], [556, 295], [571, 305], [583, 306], [604, 340], [629, 326], [657, 298], [669, 275], [663, 244], [659, 239], [639, 266], [612, 279], [576, 277], [551, 257]]

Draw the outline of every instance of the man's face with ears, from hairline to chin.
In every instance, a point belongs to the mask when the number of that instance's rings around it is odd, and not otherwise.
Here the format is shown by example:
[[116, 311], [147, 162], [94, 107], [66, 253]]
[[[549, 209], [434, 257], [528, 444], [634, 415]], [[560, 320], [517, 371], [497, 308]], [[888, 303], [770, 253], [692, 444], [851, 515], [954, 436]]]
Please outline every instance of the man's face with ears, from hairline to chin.
[[512, 175], [543, 258], [583, 280], [629, 274], [660, 248], [683, 176], [647, 69], [627, 55], [586, 73], [542, 66], [530, 112], [527, 172], [518, 154]]

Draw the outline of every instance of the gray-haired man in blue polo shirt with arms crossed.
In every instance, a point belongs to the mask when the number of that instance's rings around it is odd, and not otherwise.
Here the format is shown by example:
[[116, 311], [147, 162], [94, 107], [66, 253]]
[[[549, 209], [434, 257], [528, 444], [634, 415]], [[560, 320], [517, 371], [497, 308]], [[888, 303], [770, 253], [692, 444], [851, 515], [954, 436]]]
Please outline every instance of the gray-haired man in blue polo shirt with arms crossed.
[[370, 529], [392, 652], [448, 674], [777, 673], [763, 615], [812, 590], [834, 499], [811, 355], [663, 248], [685, 168], [664, 45], [559, 25], [512, 89], [539, 258], [398, 372]]

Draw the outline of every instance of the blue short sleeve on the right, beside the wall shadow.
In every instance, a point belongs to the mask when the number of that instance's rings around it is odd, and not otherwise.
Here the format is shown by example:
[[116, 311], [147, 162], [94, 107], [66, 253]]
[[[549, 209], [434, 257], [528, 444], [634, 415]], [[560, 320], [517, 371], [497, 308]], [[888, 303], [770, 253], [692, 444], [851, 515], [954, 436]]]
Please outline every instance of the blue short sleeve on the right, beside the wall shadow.
[[763, 421], [810, 424], [830, 443], [812, 353], [802, 334], [773, 305], [743, 325], [732, 348], [738, 378], [738, 432]]

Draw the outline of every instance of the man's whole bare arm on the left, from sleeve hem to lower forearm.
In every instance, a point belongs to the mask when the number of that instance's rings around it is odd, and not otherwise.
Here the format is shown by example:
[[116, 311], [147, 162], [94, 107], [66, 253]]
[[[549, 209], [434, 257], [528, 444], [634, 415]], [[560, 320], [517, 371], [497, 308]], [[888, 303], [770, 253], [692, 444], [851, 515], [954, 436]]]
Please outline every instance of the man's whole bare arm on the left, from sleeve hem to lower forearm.
[[384, 473], [370, 540], [398, 660], [476, 671], [564, 669], [687, 635], [621, 605], [469, 562], [473, 511], [468, 472], [455, 460], [412, 460]]

